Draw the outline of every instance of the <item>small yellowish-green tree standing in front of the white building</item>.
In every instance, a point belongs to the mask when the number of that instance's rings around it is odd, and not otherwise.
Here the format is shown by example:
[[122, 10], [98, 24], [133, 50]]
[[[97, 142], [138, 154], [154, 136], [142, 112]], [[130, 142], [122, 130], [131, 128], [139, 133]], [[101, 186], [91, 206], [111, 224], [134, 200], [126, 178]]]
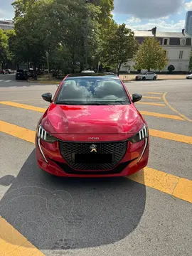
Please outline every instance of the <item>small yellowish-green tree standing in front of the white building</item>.
[[134, 66], [135, 69], [146, 69], [148, 71], [162, 70], [168, 62], [166, 53], [160, 46], [160, 42], [153, 38], [146, 38], [137, 52]]

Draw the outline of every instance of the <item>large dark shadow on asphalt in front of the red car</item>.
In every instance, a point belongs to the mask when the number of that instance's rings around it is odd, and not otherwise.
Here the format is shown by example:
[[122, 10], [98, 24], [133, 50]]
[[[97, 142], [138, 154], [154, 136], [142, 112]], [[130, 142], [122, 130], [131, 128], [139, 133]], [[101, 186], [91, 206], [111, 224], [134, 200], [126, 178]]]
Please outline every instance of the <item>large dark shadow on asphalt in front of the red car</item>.
[[[33, 150], [0, 202], [0, 215], [40, 250], [108, 245], [137, 228], [146, 188], [128, 178], [60, 178], [38, 169]], [[24, 245], [23, 245], [24, 246]]]

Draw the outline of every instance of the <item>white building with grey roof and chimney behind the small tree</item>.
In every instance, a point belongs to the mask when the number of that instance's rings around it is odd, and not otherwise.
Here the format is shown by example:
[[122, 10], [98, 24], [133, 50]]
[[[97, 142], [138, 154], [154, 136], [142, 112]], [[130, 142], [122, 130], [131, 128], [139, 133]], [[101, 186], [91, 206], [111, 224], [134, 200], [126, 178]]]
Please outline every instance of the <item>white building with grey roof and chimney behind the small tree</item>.
[[[153, 28], [154, 29], [154, 28]], [[188, 65], [191, 55], [192, 38], [183, 29], [181, 32], [158, 32], [155, 30], [156, 39], [160, 41], [162, 48], [166, 50], [166, 55], [169, 58], [169, 63], [164, 70], [168, 71], [169, 65], [174, 65], [174, 71], [188, 71]], [[144, 41], [144, 38], [153, 37], [152, 31], [134, 31], [134, 36], [139, 43]], [[123, 65], [120, 71], [127, 72], [134, 70], [134, 61]], [[154, 70], [156, 72], [160, 70]]]

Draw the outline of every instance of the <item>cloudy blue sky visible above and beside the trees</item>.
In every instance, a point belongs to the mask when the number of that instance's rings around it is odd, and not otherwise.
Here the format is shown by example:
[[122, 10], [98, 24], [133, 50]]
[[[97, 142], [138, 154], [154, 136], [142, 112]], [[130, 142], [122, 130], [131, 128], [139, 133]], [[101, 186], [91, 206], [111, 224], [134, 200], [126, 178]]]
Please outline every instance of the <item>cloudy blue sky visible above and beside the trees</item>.
[[[0, 0], [0, 18], [11, 19], [14, 0]], [[73, 0], [72, 0], [73, 1]], [[191, 0], [114, 0], [113, 18], [126, 23], [133, 31], [157, 27], [158, 31], [181, 31], [186, 11], [192, 11]]]

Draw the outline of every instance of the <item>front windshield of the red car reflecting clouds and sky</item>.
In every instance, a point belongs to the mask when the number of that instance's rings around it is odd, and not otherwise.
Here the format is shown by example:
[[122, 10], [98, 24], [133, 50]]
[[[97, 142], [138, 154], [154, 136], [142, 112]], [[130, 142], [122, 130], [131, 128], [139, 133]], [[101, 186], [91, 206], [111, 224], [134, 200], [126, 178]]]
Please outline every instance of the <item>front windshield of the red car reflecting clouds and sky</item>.
[[112, 78], [67, 78], [58, 92], [56, 104], [126, 105], [129, 97], [120, 80]]

